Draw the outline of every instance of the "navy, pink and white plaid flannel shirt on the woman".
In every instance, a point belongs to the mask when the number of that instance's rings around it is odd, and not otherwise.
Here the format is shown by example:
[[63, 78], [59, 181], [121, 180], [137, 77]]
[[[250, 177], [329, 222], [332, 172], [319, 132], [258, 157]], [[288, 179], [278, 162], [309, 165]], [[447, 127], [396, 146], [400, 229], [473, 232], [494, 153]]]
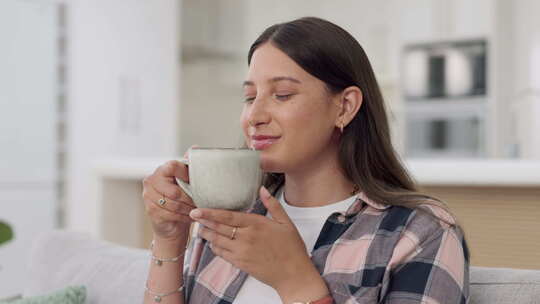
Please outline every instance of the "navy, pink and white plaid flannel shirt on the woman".
[[[266, 209], [257, 199], [249, 212]], [[329, 215], [311, 259], [335, 303], [467, 303], [469, 254], [454, 224], [442, 208], [378, 204], [360, 193], [346, 212]], [[186, 303], [233, 303], [248, 276], [199, 237], [184, 264]]]

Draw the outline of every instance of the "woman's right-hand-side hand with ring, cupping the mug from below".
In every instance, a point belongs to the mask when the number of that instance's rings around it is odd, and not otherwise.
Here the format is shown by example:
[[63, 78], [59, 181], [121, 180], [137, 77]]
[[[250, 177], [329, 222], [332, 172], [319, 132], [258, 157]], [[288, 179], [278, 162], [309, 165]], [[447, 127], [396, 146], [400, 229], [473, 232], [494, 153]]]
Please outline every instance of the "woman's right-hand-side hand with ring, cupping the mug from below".
[[328, 294], [326, 284], [293, 222], [266, 188], [261, 187], [260, 197], [272, 219], [202, 208], [190, 216], [204, 226], [199, 235], [210, 242], [216, 255], [272, 286], [284, 303], [324, 297]]

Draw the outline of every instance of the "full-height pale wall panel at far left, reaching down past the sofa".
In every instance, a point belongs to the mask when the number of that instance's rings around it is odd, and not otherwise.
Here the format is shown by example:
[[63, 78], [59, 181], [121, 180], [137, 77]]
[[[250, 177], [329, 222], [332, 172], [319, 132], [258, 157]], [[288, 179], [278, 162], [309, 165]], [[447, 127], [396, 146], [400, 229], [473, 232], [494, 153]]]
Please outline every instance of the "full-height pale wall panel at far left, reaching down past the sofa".
[[56, 7], [0, 1], [0, 298], [23, 290], [33, 237], [56, 226]]

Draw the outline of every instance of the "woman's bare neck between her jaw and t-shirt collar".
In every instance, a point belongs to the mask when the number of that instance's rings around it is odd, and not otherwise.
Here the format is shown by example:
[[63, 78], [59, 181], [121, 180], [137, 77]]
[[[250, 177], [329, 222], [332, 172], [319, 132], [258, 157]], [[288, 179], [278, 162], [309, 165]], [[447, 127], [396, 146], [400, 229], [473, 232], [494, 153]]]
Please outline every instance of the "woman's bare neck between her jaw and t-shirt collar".
[[285, 200], [297, 207], [317, 207], [342, 201], [351, 196], [353, 183], [345, 177], [337, 153], [326, 160], [311, 162], [309, 168], [285, 173]]

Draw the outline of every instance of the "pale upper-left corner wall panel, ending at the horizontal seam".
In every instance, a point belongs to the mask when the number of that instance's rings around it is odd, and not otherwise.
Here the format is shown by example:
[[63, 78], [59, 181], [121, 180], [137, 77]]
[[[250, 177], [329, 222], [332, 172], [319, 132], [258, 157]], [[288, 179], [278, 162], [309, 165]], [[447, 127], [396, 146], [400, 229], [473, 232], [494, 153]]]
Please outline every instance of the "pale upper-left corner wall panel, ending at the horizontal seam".
[[54, 5], [0, 2], [0, 184], [56, 179], [55, 17]]

